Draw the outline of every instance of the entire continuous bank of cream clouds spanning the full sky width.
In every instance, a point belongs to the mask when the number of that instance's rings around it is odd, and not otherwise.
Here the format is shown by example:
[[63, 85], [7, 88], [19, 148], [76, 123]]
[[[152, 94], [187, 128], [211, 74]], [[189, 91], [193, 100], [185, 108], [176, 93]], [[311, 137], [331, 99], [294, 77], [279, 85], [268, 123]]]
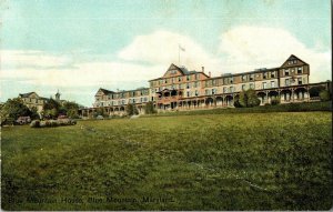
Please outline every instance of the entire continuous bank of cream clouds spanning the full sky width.
[[[135, 37], [110, 61], [89, 52], [82, 59], [80, 53], [1, 50], [0, 81], [6, 84], [1, 94], [9, 97], [12, 87], [21, 85], [37, 90], [67, 88], [77, 93], [75, 98], [82, 98], [82, 89], [148, 87], [148, 80], [161, 77], [170, 63], [179, 63], [179, 44], [185, 49], [180, 52], [181, 64], [189, 70], [203, 65], [212, 75], [280, 67], [295, 54], [310, 64], [311, 82], [331, 79], [331, 50], [309, 48], [284, 29], [240, 26], [223, 32], [211, 52], [188, 36], [165, 30]], [[88, 100], [85, 103], [90, 104]]]

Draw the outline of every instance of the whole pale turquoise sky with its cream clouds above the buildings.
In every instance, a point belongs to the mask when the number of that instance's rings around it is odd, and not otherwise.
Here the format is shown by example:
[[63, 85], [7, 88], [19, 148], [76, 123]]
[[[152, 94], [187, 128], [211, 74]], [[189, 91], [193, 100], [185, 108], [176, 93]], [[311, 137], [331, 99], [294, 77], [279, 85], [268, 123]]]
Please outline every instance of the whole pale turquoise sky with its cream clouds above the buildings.
[[332, 80], [330, 0], [3, 0], [0, 39], [1, 102], [59, 90], [91, 107], [99, 88], [149, 87], [171, 63], [218, 77], [291, 54], [310, 82]]

